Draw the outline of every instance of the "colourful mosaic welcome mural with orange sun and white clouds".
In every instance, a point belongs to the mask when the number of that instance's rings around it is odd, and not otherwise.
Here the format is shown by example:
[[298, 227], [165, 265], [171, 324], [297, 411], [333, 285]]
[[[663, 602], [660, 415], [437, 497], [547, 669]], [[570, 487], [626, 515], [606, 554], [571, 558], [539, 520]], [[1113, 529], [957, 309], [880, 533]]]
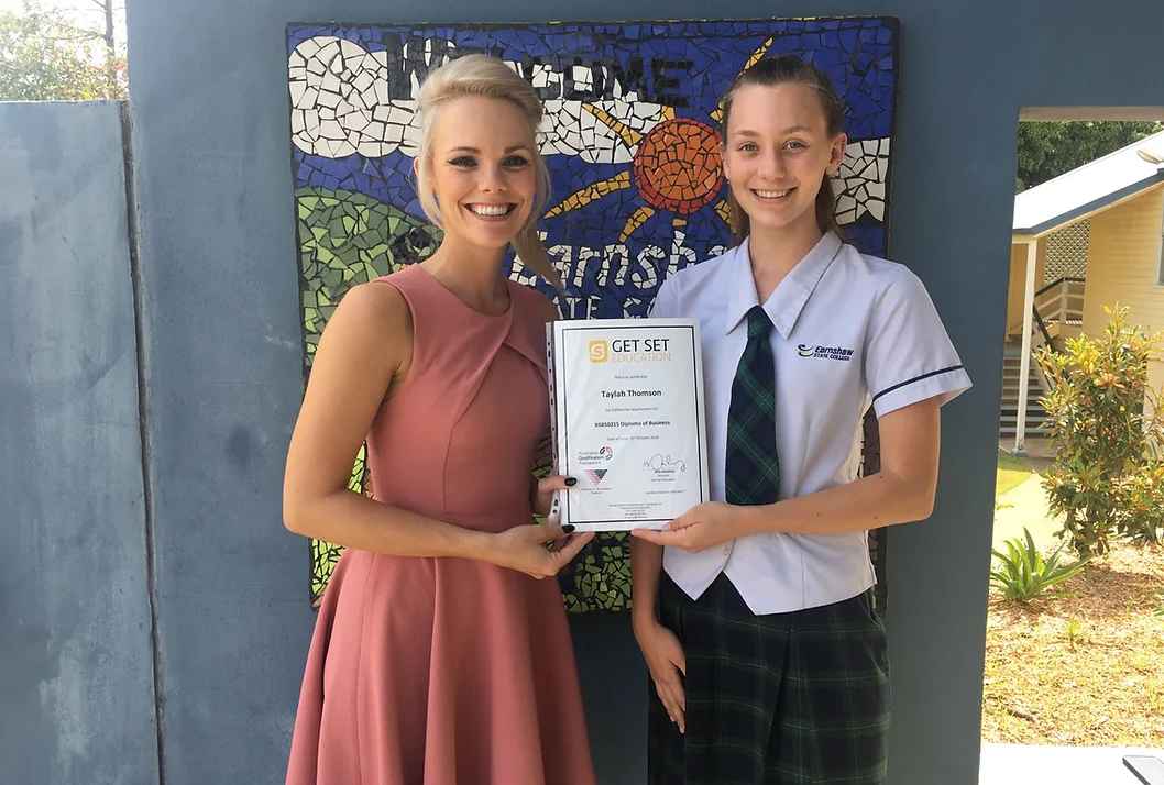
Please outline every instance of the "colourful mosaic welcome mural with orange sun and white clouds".
[[[890, 19], [290, 26], [305, 376], [350, 286], [439, 244], [412, 183], [414, 95], [448, 58], [501, 57], [541, 95], [539, 147], [556, 197], [541, 231], [566, 285], [562, 315], [587, 319], [645, 315], [667, 276], [730, 247], [717, 101], [766, 55], [811, 60], [844, 97], [837, 215], [850, 242], [883, 256], [896, 50]], [[519, 259], [506, 272], [555, 295]], [[361, 454], [350, 487], [369, 483]], [[313, 542], [311, 552], [314, 599], [340, 549]], [[561, 583], [570, 611], [627, 608], [625, 535], [595, 540]]]

